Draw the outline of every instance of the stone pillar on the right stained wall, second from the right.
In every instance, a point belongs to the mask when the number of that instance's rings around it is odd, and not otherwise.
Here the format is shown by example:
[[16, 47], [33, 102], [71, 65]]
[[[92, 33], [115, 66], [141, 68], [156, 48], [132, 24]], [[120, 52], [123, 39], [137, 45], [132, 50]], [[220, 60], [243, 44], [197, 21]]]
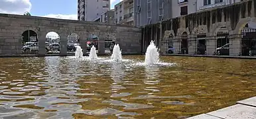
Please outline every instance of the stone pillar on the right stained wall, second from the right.
[[217, 48], [217, 37], [206, 36], [206, 55], [212, 56], [216, 52]]

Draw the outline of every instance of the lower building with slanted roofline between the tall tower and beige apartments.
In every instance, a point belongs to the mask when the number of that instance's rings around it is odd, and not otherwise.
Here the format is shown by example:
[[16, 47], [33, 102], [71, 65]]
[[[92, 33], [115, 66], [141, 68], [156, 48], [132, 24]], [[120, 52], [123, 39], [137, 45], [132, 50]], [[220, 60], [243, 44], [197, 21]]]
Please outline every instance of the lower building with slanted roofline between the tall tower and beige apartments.
[[94, 21], [115, 24], [115, 10], [105, 11], [97, 19], [94, 19]]

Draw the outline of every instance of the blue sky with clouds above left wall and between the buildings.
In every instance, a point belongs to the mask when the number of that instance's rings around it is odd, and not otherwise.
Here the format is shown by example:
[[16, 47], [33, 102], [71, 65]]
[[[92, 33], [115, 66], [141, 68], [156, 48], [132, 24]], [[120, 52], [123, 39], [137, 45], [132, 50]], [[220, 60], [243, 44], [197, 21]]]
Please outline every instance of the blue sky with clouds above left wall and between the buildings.
[[[122, 0], [110, 0], [111, 9]], [[0, 13], [77, 20], [77, 0], [0, 0]]]

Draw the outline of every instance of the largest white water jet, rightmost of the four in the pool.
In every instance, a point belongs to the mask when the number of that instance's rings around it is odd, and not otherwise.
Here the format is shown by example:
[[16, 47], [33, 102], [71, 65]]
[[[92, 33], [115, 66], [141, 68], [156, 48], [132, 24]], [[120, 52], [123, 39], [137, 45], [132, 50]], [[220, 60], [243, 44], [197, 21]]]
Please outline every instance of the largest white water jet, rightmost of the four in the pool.
[[147, 65], [159, 63], [159, 51], [153, 40], [151, 40], [151, 43], [147, 47], [145, 63]]

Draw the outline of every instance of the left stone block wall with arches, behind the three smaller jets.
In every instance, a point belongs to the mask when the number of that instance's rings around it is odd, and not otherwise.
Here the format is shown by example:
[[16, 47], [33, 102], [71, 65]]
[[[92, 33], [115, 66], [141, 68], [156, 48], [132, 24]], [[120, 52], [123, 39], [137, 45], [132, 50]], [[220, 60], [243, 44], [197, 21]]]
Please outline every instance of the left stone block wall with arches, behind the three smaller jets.
[[84, 51], [86, 38], [95, 34], [99, 37], [99, 54], [104, 54], [104, 40], [107, 36], [114, 37], [123, 54], [141, 53], [141, 28], [102, 22], [0, 14], [0, 56], [21, 55], [22, 34], [26, 30], [33, 30], [38, 35], [38, 55], [44, 55], [46, 52], [44, 45], [48, 32], [56, 32], [60, 36], [61, 55], [67, 54], [67, 36], [72, 33], [80, 36]]

